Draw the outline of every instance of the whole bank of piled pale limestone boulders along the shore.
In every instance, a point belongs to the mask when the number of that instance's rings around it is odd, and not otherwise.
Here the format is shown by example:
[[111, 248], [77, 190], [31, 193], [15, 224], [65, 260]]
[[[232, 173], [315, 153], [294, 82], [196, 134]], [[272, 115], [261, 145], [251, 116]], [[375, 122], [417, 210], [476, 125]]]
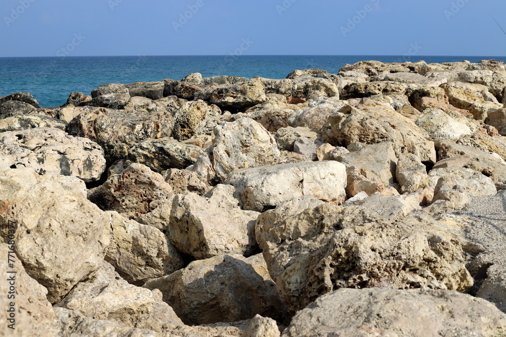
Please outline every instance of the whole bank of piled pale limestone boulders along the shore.
[[0, 97], [2, 330], [504, 336], [505, 89], [363, 61]]

